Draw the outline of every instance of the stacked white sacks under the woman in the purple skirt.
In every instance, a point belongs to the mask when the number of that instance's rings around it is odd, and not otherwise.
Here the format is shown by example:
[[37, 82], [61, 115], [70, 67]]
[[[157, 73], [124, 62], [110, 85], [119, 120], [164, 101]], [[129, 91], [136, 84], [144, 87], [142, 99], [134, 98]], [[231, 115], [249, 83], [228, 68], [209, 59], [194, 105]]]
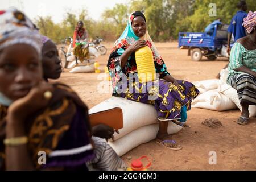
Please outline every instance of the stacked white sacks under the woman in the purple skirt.
[[[157, 112], [155, 107], [150, 104], [143, 104], [113, 96], [94, 106], [89, 110], [89, 114], [114, 107], [122, 108], [123, 128], [119, 130], [119, 134], [114, 134], [115, 141], [109, 142], [109, 144], [119, 156], [126, 154], [126, 152], [129, 152], [140, 144], [155, 139], [158, 133], [159, 122], [156, 120]], [[177, 133], [181, 129], [181, 126], [169, 122], [169, 134]]]

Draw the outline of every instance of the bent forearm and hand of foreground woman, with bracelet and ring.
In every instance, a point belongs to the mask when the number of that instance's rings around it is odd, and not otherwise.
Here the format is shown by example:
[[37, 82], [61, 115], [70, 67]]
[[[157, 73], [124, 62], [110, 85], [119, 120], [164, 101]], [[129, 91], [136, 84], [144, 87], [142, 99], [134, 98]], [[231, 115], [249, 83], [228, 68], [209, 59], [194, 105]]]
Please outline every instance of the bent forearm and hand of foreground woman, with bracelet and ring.
[[[13, 102], [7, 110], [6, 138], [26, 136], [24, 122], [26, 118], [47, 106], [50, 97], [44, 97], [46, 91], [53, 92], [53, 87], [46, 82], [40, 82], [30, 90], [27, 96]], [[26, 144], [19, 146], [6, 146], [6, 169], [7, 170], [34, 170], [32, 156], [28, 152]]]

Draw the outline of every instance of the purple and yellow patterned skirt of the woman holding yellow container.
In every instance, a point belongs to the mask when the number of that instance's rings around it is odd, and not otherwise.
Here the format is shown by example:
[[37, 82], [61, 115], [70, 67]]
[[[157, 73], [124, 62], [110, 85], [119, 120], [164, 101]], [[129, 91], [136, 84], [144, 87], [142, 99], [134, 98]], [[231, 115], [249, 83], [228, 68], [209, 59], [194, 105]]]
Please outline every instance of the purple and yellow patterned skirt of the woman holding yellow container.
[[[121, 85], [117, 94], [128, 100], [152, 104], [158, 111], [158, 120], [167, 121], [180, 119], [181, 107], [191, 109], [191, 100], [200, 92], [191, 82], [177, 80], [179, 88], [166, 80], [140, 83], [129, 82]], [[123, 89], [124, 88], [124, 89]]]

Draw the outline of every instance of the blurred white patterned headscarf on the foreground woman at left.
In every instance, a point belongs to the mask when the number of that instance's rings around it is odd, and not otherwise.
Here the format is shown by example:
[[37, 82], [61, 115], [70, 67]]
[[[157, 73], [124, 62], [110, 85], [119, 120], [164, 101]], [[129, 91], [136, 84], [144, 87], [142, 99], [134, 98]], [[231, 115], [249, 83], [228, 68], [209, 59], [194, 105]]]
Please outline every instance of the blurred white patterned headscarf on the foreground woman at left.
[[[41, 36], [31, 20], [19, 10], [0, 11], [0, 27], [0, 50], [15, 44], [28, 44], [41, 56]], [[0, 92], [0, 104], [9, 106], [11, 102]]]

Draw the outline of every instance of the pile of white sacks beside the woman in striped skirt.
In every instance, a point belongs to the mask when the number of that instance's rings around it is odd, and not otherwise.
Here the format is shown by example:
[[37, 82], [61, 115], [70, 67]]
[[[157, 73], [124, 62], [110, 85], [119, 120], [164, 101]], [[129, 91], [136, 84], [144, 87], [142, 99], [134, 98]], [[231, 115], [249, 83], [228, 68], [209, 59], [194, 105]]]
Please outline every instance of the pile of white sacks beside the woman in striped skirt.
[[[192, 101], [192, 107], [225, 111], [236, 109], [242, 110], [237, 91], [226, 84], [228, 69], [222, 69], [220, 80], [204, 80], [193, 82], [200, 90], [199, 96]], [[256, 115], [256, 106], [249, 106], [250, 117]]]

